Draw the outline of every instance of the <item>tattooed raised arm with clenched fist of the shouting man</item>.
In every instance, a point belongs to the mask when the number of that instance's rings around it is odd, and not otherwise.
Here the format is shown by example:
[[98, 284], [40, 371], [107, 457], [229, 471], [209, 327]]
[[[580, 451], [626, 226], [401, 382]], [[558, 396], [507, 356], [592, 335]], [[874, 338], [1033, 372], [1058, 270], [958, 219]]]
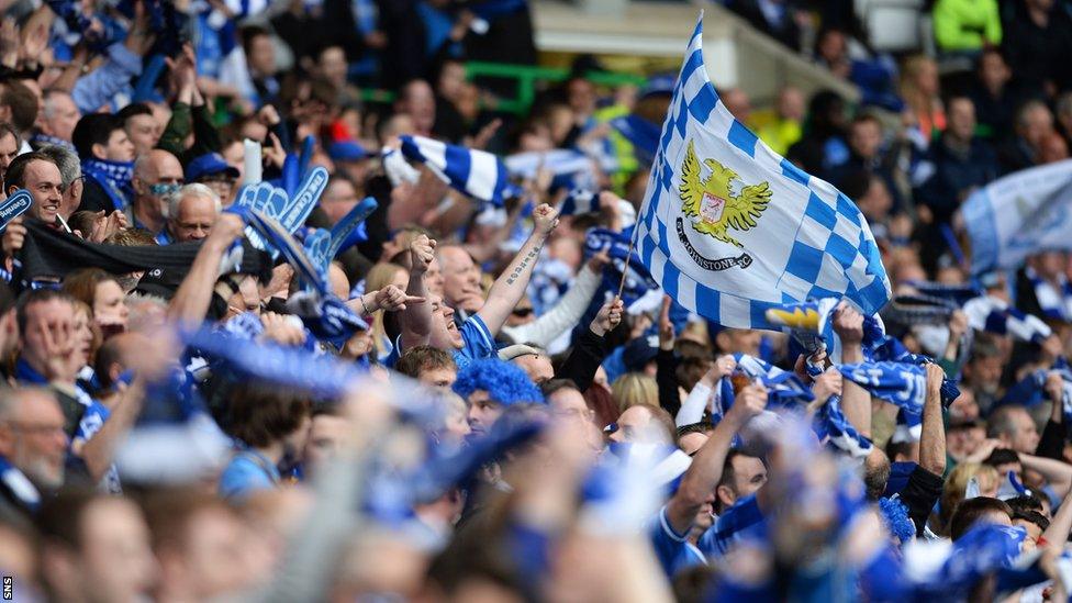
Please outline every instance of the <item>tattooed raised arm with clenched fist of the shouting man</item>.
[[525, 294], [528, 279], [533, 276], [533, 267], [539, 259], [540, 249], [544, 248], [544, 242], [558, 225], [558, 212], [545, 203], [533, 212], [533, 220], [536, 222], [533, 234], [528, 236], [528, 241], [514, 256], [506, 270], [491, 286], [488, 301], [480, 309], [480, 312], [477, 312], [488, 325], [488, 331], [491, 332], [492, 337], [499, 334], [499, 330], [506, 322], [506, 317], [510, 316], [514, 306], [521, 302], [522, 295]]

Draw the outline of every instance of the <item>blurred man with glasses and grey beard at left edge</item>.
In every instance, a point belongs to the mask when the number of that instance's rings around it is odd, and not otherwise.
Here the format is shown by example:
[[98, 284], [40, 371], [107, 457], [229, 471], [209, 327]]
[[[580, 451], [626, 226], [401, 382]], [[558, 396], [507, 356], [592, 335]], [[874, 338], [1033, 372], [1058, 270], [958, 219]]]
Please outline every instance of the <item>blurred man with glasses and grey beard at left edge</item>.
[[64, 484], [67, 433], [53, 392], [0, 391], [0, 518], [27, 522], [42, 491]]

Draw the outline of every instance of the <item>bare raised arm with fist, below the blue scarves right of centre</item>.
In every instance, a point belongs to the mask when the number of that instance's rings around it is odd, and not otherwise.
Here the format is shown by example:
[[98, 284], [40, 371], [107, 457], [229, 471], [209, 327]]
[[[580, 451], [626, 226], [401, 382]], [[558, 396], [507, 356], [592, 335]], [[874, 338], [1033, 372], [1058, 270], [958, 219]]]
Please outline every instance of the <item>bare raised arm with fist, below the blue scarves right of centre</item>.
[[681, 487], [667, 503], [667, 520], [674, 532], [684, 534], [692, 527], [700, 507], [711, 501], [712, 492], [722, 479], [722, 469], [734, 435], [766, 407], [767, 389], [762, 386], [748, 386], [737, 395], [726, 416], [696, 451], [681, 480]]

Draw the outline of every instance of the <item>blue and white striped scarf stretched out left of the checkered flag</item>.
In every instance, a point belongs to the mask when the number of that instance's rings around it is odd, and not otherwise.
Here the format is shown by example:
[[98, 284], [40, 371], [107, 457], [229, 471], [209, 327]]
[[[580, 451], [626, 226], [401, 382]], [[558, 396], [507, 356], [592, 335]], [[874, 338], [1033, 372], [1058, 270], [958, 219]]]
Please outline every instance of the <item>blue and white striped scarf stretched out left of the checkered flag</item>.
[[401, 136], [402, 154], [426, 165], [451, 188], [502, 206], [505, 199], [522, 190], [510, 181], [506, 166], [487, 150], [448, 145], [423, 136]]

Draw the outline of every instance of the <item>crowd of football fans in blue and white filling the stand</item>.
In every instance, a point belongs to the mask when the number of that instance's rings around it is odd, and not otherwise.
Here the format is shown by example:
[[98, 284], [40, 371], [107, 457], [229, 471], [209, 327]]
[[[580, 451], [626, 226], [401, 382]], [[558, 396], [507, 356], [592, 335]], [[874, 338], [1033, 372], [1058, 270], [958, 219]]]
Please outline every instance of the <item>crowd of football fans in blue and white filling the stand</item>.
[[[1072, 261], [971, 275], [959, 209], [1069, 157], [1070, 4], [938, 0], [938, 57], [870, 49], [851, 2], [728, 4], [862, 98], [723, 102], [858, 204], [895, 294], [957, 300], [883, 312], [935, 359], [914, 427], [790, 335], [619, 287], [592, 233], [629, 232], [654, 148], [618, 120], [660, 127], [672, 77], [611, 89], [585, 58], [501, 110], [512, 82], [466, 65], [535, 64], [525, 0], [3, 2], [0, 197], [33, 198], [2, 232], [4, 596], [987, 599], [1010, 562], [927, 582], [905, 551], [997, 524], [1021, 528], [1013, 557], [1060, 558]], [[940, 76], [953, 55], [973, 70]], [[496, 206], [402, 159], [412, 135], [547, 160]], [[297, 236], [378, 204], [326, 272], [360, 319], [343, 337], [227, 211], [299, 156], [330, 179]], [[959, 308], [980, 299], [1038, 326]], [[831, 321], [839, 361], [862, 361], [871, 317]], [[759, 361], [809, 402], [771, 413]], [[812, 428], [831, 409], [862, 454]], [[1046, 569], [1012, 590], [1067, 599]]]

